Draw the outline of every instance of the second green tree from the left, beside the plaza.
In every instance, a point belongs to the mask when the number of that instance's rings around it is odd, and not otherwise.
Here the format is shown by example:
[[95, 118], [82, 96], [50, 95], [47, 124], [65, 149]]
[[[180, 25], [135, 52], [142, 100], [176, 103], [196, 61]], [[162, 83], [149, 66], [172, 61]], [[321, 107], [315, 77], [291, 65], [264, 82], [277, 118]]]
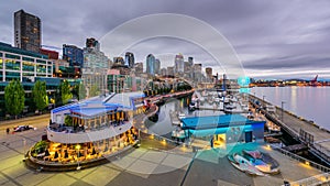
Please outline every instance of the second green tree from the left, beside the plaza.
[[37, 110], [42, 111], [48, 106], [46, 83], [37, 80], [32, 88], [33, 101]]

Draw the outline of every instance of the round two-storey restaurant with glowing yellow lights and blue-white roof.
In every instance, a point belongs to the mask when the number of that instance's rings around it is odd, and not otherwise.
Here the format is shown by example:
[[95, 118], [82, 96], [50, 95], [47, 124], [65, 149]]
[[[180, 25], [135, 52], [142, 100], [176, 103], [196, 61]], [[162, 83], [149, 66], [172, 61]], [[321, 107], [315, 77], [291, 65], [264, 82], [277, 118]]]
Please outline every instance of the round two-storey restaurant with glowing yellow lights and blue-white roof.
[[51, 112], [45, 153], [29, 157], [41, 164], [78, 164], [101, 160], [136, 144], [133, 117], [143, 111], [143, 92], [98, 96]]

